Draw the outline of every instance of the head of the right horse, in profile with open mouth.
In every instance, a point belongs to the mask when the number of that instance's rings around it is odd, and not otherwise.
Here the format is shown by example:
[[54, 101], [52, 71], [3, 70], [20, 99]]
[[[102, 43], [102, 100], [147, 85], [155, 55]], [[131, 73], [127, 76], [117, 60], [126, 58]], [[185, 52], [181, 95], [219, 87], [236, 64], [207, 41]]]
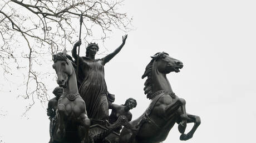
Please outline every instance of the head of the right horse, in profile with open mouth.
[[170, 72], [180, 72], [183, 63], [178, 59], [171, 58], [168, 53], [159, 52], [151, 57], [154, 60], [157, 70], [160, 73], [169, 74]]

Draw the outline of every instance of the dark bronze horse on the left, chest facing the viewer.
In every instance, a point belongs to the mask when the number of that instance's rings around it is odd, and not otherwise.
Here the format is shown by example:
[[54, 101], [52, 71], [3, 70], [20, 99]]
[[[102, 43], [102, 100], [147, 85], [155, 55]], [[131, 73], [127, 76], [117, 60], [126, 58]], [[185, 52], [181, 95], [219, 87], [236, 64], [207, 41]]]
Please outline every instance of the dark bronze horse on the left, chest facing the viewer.
[[58, 99], [58, 130], [55, 140], [58, 142], [88, 142], [90, 119], [87, 118], [85, 102], [77, 89], [77, 81], [72, 61], [66, 52], [53, 55], [52, 65], [58, 76], [57, 83], [63, 88]]

